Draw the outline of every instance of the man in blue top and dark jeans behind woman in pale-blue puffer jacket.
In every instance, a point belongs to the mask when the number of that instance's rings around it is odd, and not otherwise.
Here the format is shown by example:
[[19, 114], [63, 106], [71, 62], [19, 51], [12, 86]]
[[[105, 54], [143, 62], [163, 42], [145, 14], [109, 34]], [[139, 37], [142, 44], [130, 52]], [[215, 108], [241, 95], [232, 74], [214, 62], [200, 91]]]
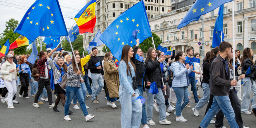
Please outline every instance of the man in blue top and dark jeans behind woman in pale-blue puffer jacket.
[[[191, 48], [188, 48], [186, 52], [187, 52], [186, 58], [193, 58], [193, 50]], [[187, 61], [185, 61], [185, 63], [189, 63], [189, 66], [194, 65], [194, 62], [187, 62]], [[197, 104], [199, 102], [199, 99], [197, 97], [197, 85], [196, 85], [195, 73], [200, 74], [200, 72], [195, 71], [195, 68], [193, 66], [193, 71], [188, 74], [188, 80], [189, 80], [189, 84], [191, 84], [191, 88], [192, 88], [192, 91], [193, 91], [194, 99], [195, 99], [195, 102]]]

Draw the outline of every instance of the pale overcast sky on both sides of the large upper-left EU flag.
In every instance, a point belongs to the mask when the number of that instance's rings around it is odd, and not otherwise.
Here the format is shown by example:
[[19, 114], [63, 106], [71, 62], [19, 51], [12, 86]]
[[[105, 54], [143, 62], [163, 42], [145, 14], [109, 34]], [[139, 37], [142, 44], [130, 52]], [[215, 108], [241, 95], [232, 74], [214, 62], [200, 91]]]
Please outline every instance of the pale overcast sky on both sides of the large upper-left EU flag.
[[[14, 18], [22, 20], [28, 8], [35, 0], [0, 0], [0, 33], [5, 29], [5, 22]], [[70, 28], [75, 20], [73, 18], [86, 4], [86, 0], [59, 0], [60, 8], [67, 28]], [[70, 17], [70, 18], [69, 18]]]

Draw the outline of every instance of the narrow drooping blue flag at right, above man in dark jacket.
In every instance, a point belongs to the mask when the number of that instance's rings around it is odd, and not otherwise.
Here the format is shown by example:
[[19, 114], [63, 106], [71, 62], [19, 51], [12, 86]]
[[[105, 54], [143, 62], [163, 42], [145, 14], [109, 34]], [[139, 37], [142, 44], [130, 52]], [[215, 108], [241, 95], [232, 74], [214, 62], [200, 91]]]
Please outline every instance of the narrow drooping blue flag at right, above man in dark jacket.
[[[213, 36], [212, 36], [212, 47], [217, 47], [224, 39], [223, 33], [223, 8], [224, 5], [219, 6], [219, 12], [217, 15], [217, 19], [214, 25]], [[222, 32], [222, 40], [221, 40], [221, 32]]]

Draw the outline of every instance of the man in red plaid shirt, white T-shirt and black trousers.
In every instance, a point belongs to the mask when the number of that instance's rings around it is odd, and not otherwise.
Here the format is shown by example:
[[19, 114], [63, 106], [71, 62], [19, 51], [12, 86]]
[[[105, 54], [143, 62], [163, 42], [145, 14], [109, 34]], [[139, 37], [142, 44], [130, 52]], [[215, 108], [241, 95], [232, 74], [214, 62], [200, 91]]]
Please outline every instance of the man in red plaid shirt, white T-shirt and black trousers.
[[47, 59], [46, 59], [46, 52], [44, 51], [40, 51], [38, 56], [40, 59], [38, 59], [38, 65], [37, 65], [37, 69], [39, 71], [39, 79], [38, 79], [38, 91], [37, 94], [35, 95], [35, 99], [34, 99], [34, 103], [33, 106], [35, 108], [39, 108], [38, 105], [38, 99], [39, 96], [41, 95], [43, 88], [45, 87], [47, 90], [47, 96], [48, 96], [48, 101], [49, 101], [49, 108], [53, 108], [54, 107], [54, 103], [52, 101], [52, 90], [50, 88], [50, 75], [49, 75], [49, 70], [48, 70], [48, 65], [46, 63]]

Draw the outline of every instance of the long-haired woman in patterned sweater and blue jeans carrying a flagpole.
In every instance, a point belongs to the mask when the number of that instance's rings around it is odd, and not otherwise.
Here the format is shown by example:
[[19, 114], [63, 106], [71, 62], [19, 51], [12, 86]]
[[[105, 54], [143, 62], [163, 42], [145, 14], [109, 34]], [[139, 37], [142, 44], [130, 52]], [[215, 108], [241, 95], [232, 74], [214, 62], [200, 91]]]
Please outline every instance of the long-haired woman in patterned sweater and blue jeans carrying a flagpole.
[[[76, 67], [76, 63], [78, 64], [79, 69]], [[80, 62], [80, 55], [75, 54], [72, 58], [72, 64], [67, 69], [67, 84], [66, 84], [66, 91], [67, 91], [67, 101], [65, 103], [65, 120], [71, 120], [69, 117], [69, 106], [71, 104], [71, 100], [73, 99], [74, 95], [77, 97], [81, 109], [84, 113], [86, 121], [94, 118], [95, 116], [88, 115], [86, 106], [85, 106], [85, 99], [83, 96], [83, 90], [81, 88], [81, 83], [84, 82], [83, 79], [80, 78], [81, 72], [81, 62]]]

